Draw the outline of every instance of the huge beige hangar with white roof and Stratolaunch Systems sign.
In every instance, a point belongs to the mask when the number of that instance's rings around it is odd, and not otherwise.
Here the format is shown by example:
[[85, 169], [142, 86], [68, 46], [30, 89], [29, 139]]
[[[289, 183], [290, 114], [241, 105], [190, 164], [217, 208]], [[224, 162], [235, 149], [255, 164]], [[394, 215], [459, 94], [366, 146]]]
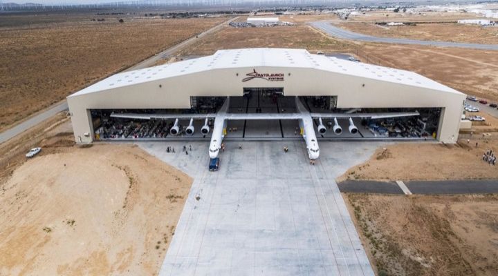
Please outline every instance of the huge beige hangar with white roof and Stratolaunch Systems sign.
[[[230, 103], [225, 101], [228, 97]], [[307, 112], [318, 139], [341, 137], [341, 133], [345, 137], [347, 131], [335, 126], [351, 123], [349, 126], [361, 128], [360, 134], [349, 128], [351, 138], [356, 137], [353, 134], [371, 139], [429, 137], [451, 143], [457, 141], [465, 95], [405, 70], [312, 55], [302, 49], [248, 48], [219, 50], [207, 57], [122, 72], [67, 100], [77, 142], [165, 138], [178, 124], [178, 120], [173, 123], [175, 117], [198, 124], [205, 119], [206, 127], [211, 118], [207, 129], [211, 133], [212, 119], [224, 106], [223, 121], [299, 120], [299, 114]], [[271, 104], [276, 107], [272, 109]], [[244, 115], [230, 115], [230, 110]], [[110, 121], [118, 119], [124, 121], [110, 126]], [[320, 130], [325, 125], [322, 119], [330, 120], [329, 129], [334, 126], [331, 136], [325, 134], [326, 129]], [[154, 126], [142, 123], [127, 128], [132, 124], [129, 121], [150, 120], [155, 121]], [[169, 125], [160, 120], [170, 120]], [[304, 137], [302, 121], [299, 126]], [[246, 128], [246, 124], [243, 126]], [[142, 130], [136, 130], [138, 127]], [[163, 128], [167, 129], [165, 133], [160, 131]], [[224, 136], [226, 122], [218, 131], [222, 128]], [[175, 134], [182, 132], [177, 130]], [[216, 126], [213, 133], [215, 130]]]

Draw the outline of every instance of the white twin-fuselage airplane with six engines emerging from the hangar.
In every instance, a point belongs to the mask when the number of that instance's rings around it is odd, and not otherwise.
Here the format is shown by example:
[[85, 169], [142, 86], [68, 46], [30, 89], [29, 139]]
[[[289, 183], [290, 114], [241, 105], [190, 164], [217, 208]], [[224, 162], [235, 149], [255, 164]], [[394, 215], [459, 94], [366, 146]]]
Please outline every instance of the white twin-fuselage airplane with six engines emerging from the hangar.
[[[207, 135], [210, 132], [210, 127], [208, 126], [208, 120], [214, 118], [213, 133], [211, 136], [211, 142], [209, 146], [210, 158], [216, 158], [219, 155], [219, 150], [221, 149], [221, 143], [223, 138], [227, 133], [227, 122], [229, 120], [298, 120], [300, 135], [302, 135], [304, 142], [306, 143], [306, 150], [308, 152], [309, 159], [317, 159], [320, 157], [320, 147], [317, 143], [317, 137], [315, 135], [315, 128], [313, 127], [313, 119], [318, 119], [317, 130], [321, 135], [326, 133], [326, 127], [322, 123], [323, 119], [333, 119], [333, 132], [335, 135], [340, 135], [342, 133], [342, 128], [338, 124], [338, 118], [348, 118], [349, 127], [348, 130], [351, 134], [358, 133], [358, 128], [353, 123], [353, 118], [362, 119], [383, 119], [383, 118], [394, 118], [394, 117], [409, 117], [418, 116], [418, 112], [385, 112], [385, 113], [311, 113], [309, 112], [299, 100], [295, 97], [295, 104], [297, 112], [294, 113], [228, 113], [228, 106], [230, 105], [230, 97], [227, 97], [223, 106], [216, 113], [210, 114], [139, 114], [139, 113], [115, 113], [111, 114], [111, 117], [115, 118], [131, 118], [131, 119], [175, 119], [174, 125], [169, 129], [171, 135], [178, 135], [180, 129], [178, 127], [178, 119], [190, 119], [190, 124], [186, 128], [185, 132], [187, 135], [193, 135], [195, 128], [193, 125], [194, 119], [205, 119], [204, 126], [201, 128], [203, 135]], [[356, 110], [352, 111], [355, 112]]]

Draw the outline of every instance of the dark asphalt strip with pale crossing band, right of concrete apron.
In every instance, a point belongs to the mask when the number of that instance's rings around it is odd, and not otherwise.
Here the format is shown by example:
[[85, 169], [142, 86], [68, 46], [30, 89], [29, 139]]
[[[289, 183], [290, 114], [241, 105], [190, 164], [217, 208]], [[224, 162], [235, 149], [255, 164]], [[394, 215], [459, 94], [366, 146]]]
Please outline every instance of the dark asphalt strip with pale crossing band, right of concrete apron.
[[[492, 167], [491, 169], [496, 169]], [[338, 183], [342, 193], [403, 194], [394, 181], [343, 181]], [[461, 195], [498, 193], [498, 180], [443, 180], [405, 181], [412, 194], [420, 195]]]

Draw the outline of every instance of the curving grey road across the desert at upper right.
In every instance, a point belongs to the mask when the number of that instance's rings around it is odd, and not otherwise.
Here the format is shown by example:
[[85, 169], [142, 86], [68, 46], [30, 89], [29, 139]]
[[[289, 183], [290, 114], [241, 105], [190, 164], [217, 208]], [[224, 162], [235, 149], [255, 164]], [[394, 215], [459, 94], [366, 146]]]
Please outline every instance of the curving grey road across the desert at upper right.
[[445, 42], [445, 41], [372, 37], [367, 34], [359, 34], [358, 32], [351, 32], [349, 30], [338, 28], [337, 26], [333, 26], [331, 23], [325, 21], [311, 22], [311, 26], [323, 30], [327, 34], [330, 34], [331, 36], [337, 37], [339, 39], [351, 39], [351, 40], [358, 40], [365, 42], [425, 45], [425, 46], [436, 46], [436, 47], [456, 47], [456, 48], [468, 48], [468, 49], [478, 49], [478, 50], [498, 50], [498, 45], [492, 45], [492, 44], [455, 43], [455, 42]]

